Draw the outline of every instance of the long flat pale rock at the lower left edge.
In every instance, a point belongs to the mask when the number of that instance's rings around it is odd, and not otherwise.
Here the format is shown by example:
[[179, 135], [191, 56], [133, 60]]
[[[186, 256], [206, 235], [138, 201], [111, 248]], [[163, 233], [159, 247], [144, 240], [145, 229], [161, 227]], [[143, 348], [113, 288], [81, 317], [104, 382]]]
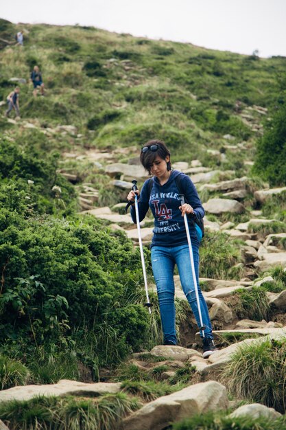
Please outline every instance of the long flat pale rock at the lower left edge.
[[118, 393], [120, 383], [87, 384], [78, 381], [62, 379], [57, 384], [21, 385], [0, 391], [0, 403], [8, 400], [29, 400], [35, 396], [100, 396], [106, 393]]

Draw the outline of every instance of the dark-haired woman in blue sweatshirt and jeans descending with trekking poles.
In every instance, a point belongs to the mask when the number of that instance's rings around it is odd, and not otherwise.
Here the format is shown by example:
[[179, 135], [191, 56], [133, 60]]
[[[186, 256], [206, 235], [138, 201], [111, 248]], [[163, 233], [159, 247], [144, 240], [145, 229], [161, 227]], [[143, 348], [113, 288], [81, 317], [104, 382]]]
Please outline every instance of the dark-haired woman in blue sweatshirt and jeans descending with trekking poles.
[[[134, 207], [135, 192], [138, 196], [138, 208], [140, 221], [145, 218], [150, 208], [154, 216], [154, 230], [151, 244], [152, 270], [158, 292], [160, 317], [163, 327], [164, 344], [176, 345], [175, 327], [175, 286], [174, 267], [177, 264], [182, 289], [193, 310], [195, 319], [200, 327], [200, 315], [198, 301], [195, 295], [195, 285], [191, 271], [191, 261], [186, 229], [184, 226], [184, 214], [187, 214], [195, 275], [198, 284], [198, 295], [204, 332], [200, 330], [203, 343], [203, 357], [207, 358], [217, 350], [213, 343], [213, 332], [208, 315], [208, 307], [199, 286], [199, 247], [202, 238], [200, 227], [193, 222], [197, 217], [202, 220], [204, 208], [198, 196], [195, 185], [187, 174], [171, 170], [171, 154], [163, 141], [150, 140], [141, 148], [140, 160], [145, 170], [153, 175], [143, 184], [141, 193], [132, 190], [128, 194], [131, 205], [131, 216], [136, 223]], [[188, 203], [181, 205], [178, 189], [180, 176], [180, 189]], [[150, 181], [152, 185], [150, 186]]]

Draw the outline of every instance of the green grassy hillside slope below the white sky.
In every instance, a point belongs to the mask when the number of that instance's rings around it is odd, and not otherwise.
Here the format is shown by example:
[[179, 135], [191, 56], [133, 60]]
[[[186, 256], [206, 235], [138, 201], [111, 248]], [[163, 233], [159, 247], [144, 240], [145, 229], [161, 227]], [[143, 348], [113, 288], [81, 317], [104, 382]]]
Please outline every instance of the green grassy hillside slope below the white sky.
[[226, 134], [252, 142], [257, 135], [252, 125], [265, 115], [248, 108], [277, 104], [277, 76], [286, 64], [286, 58], [218, 52], [94, 27], [0, 25], [5, 37], [22, 27], [23, 49], [1, 50], [0, 97], [13, 88], [9, 78], [28, 79], [35, 64], [47, 88], [47, 97], [35, 100], [32, 84], [21, 85], [23, 118], [38, 120], [42, 128], [73, 124], [83, 134], [73, 142], [80, 146], [140, 146], [159, 135], [174, 160], [217, 163], [205, 149], [220, 148]]

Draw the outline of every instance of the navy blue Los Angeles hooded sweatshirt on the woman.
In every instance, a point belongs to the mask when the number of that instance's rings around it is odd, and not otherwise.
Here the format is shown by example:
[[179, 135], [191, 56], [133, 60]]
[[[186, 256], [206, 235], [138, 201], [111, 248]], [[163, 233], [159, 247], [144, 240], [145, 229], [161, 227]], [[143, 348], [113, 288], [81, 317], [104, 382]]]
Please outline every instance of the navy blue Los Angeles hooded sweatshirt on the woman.
[[[180, 181], [181, 192], [184, 192], [185, 200], [193, 207], [195, 215], [202, 219], [204, 217], [204, 208], [198, 196], [198, 192], [191, 181], [191, 178], [178, 170], [171, 170], [170, 177], [164, 185], [156, 177], [153, 178], [152, 190], [149, 193], [148, 181], [143, 183], [141, 194], [139, 196], [139, 220], [143, 220], [150, 208], [154, 216], [154, 236], [151, 247], [178, 247], [187, 245], [187, 234], [184, 227], [184, 217], [179, 209], [181, 205], [179, 193], [175, 178], [182, 175]], [[132, 220], [136, 223], [135, 207], [130, 210]], [[192, 217], [187, 216], [191, 241], [194, 245], [200, 245], [200, 238], [196, 232], [195, 223]], [[198, 227], [199, 228], [199, 227]]]

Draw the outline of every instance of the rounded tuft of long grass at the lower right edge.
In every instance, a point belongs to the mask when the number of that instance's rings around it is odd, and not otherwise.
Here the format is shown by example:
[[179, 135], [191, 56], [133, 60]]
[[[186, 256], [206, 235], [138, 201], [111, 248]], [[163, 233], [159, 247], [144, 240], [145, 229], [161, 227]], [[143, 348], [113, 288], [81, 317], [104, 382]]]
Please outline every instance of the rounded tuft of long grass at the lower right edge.
[[285, 339], [254, 341], [234, 352], [223, 381], [238, 398], [285, 411]]

